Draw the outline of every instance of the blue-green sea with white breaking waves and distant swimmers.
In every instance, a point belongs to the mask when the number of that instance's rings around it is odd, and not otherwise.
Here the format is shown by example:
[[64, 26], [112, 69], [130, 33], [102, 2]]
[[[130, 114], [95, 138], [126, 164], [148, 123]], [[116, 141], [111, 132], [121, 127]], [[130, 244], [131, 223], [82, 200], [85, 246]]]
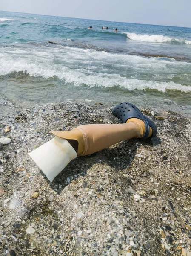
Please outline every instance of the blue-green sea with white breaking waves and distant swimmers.
[[0, 107], [67, 101], [191, 117], [191, 28], [0, 11]]

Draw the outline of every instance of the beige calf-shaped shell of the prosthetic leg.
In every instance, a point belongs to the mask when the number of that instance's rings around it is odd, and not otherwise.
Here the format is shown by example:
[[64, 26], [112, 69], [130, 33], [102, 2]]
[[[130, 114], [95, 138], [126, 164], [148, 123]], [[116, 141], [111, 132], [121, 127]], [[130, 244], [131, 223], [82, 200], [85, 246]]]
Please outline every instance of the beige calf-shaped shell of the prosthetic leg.
[[81, 125], [71, 131], [52, 131], [52, 133], [64, 139], [77, 140], [77, 154], [80, 156], [93, 154], [122, 140], [143, 137], [143, 129], [134, 122], [117, 125]]

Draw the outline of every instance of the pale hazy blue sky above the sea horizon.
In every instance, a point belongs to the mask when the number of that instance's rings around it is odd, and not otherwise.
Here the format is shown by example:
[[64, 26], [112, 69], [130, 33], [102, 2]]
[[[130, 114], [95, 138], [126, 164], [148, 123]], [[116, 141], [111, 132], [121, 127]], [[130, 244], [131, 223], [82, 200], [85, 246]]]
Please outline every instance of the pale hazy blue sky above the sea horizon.
[[0, 0], [0, 10], [191, 27], [191, 0]]

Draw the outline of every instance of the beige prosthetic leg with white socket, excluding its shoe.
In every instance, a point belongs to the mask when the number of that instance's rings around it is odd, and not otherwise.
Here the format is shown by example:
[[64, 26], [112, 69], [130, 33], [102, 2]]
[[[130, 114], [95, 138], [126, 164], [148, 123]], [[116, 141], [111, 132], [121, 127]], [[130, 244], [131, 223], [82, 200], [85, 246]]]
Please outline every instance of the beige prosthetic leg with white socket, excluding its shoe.
[[93, 154], [123, 140], [153, 136], [153, 123], [147, 125], [141, 118], [134, 114], [123, 124], [91, 124], [78, 126], [71, 131], [52, 131], [56, 135], [54, 139], [29, 155], [48, 180], [53, 181], [77, 156]]

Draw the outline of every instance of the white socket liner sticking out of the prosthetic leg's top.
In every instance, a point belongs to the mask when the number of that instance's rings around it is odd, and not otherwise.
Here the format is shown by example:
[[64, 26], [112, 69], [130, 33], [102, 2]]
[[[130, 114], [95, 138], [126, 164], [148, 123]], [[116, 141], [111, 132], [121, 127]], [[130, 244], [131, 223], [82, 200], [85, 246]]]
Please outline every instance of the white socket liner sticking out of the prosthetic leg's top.
[[29, 156], [48, 180], [53, 181], [67, 164], [77, 157], [77, 153], [67, 140], [56, 136], [29, 153]]

